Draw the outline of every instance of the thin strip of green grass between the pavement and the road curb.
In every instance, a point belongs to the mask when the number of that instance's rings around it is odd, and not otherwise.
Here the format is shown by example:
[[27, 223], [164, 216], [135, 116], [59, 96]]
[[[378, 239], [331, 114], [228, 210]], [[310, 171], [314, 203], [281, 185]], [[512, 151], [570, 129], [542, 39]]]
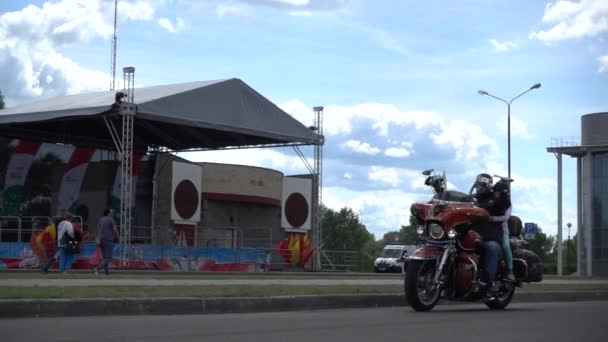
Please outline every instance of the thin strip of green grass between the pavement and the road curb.
[[[544, 285], [529, 284], [517, 291], [608, 291], [606, 284]], [[0, 287], [0, 299], [58, 298], [161, 298], [161, 297], [273, 297], [335, 294], [402, 293], [400, 285], [230, 285], [230, 286], [70, 286]]]

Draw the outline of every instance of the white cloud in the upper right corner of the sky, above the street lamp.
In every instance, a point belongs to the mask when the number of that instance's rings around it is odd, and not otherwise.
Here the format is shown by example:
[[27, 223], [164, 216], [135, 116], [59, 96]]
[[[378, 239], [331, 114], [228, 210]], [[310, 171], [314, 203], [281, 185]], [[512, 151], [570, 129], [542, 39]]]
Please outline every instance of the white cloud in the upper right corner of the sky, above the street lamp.
[[542, 22], [553, 25], [530, 33], [530, 39], [554, 42], [593, 37], [608, 32], [608, 1], [581, 0], [548, 3]]

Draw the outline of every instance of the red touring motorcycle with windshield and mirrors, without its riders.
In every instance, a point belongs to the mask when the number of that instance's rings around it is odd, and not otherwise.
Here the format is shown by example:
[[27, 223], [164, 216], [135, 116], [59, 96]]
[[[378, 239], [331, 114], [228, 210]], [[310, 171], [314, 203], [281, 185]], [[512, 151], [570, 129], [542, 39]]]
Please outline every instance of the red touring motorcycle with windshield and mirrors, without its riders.
[[417, 233], [426, 240], [408, 259], [405, 272], [405, 297], [416, 311], [429, 311], [440, 299], [484, 302], [490, 309], [509, 305], [515, 288], [523, 283], [542, 281], [542, 263], [531, 251], [524, 249], [522, 224], [517, 216], [509, 219], [509, 235], [513, 253], [515, 281], [506, 279], [504, 258], [499, 258], [498, 285], [489, 295], [492, 281], [481, 268], [482, 237], [475, 227], [490, 220], [487, 210], [475, 204], [473, 189], [469, 194], [447, 190], [445, 173], [423, 172], [425, 185], [433, 189], [428, 202], [416, 202], [411, 213], [418, 223]]

